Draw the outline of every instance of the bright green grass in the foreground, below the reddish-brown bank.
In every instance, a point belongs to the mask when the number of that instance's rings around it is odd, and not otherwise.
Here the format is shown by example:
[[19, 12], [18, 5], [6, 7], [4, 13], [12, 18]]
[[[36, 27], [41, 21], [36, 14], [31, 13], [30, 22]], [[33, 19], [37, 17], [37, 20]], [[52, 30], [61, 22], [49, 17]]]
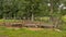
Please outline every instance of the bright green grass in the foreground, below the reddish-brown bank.
[[9, 29], [6, 27], [0, 27], [0, 37], [66, 37], [66, 30], [30, 30], [26, 28]]

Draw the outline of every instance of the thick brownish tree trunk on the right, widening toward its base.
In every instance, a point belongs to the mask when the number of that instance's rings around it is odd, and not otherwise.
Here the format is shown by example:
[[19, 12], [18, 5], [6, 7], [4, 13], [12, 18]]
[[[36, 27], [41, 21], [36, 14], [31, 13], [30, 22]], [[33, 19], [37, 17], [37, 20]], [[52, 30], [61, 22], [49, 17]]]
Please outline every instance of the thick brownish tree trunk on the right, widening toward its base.
[[54, 15], [53, 15], [53, 13], [54, 13], [54, 2], [53, 2], [54, 0], [51, 0], [50, 2], [51, 2], [51, 13], [50, 13], [50, 21], [53, 23], [53, 25], [54, 25], [54, 28], [57, 28], [57, 24], [58, 24], [58, 20], [57, 20], [57, 17], [55, 17]]

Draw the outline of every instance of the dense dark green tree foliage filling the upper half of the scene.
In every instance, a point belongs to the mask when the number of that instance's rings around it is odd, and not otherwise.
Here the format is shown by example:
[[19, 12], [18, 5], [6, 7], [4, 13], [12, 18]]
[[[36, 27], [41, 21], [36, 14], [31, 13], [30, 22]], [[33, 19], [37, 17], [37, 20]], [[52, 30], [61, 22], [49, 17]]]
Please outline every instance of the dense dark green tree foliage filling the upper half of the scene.
[[[53, 0], [53, 15], [58, 15], [58, 5], [65, 0]], [[34, 16], [48, 16], [51, 13], [48, 0], [0, 0], [0, 18], [19, 18]], [[64, 10], [63, 10], [64, 11]], [[61, 12], [61, 15], [65, 12]]]

